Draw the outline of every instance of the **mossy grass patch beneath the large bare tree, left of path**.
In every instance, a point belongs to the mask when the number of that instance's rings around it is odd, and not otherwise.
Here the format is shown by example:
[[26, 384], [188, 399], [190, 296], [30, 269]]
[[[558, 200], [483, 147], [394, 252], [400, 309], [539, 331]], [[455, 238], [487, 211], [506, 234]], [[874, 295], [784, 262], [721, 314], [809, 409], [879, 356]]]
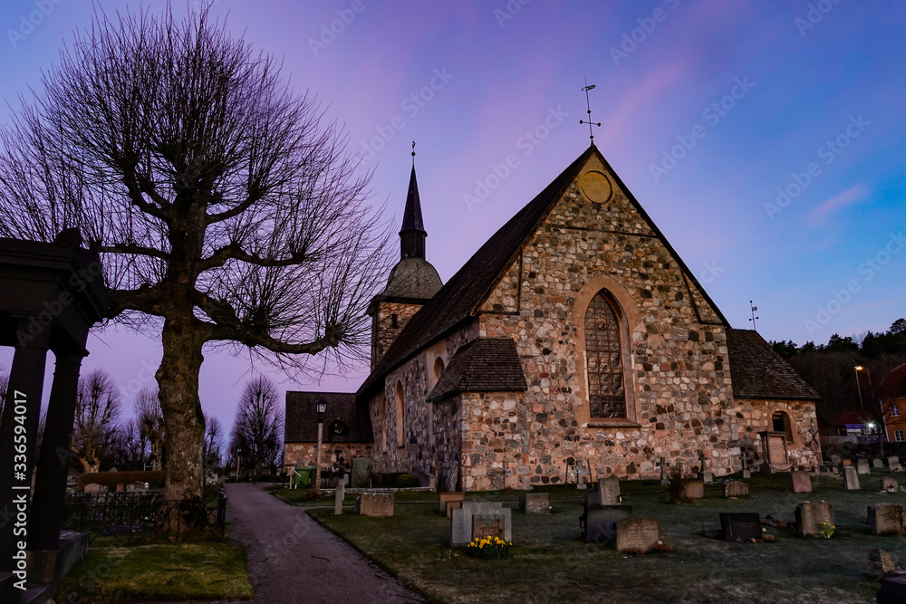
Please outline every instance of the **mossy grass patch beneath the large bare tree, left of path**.
[[54, 599], [66, 602], [252, 599], [246, 552], [230, 542], [92, 543]]

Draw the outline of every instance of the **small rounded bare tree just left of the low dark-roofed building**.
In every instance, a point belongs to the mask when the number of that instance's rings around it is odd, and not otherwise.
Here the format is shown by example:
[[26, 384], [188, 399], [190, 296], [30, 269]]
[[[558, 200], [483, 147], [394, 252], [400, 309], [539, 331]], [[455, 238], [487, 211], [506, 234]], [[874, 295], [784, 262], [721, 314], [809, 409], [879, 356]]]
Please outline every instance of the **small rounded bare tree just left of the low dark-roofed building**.
[[246, 465], [255, 478], [265, 465], [274, 465], [283, 436], [283, 410], [277, 388], [270, 379], [255, 378], [246, 383], [236, 408], [230, 450], [242, 449]]

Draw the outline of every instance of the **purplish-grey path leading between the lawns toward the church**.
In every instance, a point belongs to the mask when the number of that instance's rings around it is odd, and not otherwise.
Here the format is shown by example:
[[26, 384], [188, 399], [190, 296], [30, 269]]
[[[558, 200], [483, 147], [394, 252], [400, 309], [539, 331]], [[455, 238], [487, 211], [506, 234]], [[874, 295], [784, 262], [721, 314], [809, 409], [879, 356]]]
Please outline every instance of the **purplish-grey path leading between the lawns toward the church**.
[[261, 604], [424, 601], [323, 528], [304, 508], [283, 503], [261, 485], [227, 484], [227, 519], [246, 548]]

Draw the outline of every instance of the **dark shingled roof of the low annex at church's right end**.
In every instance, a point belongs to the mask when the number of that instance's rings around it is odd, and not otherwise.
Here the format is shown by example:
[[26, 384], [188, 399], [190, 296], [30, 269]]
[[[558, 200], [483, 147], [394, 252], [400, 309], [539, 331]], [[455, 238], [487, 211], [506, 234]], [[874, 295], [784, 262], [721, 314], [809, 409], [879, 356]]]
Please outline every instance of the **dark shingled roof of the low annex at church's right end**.
[[757, 331], [727, 330], [733, 398], [819, 400], [821, 396]]

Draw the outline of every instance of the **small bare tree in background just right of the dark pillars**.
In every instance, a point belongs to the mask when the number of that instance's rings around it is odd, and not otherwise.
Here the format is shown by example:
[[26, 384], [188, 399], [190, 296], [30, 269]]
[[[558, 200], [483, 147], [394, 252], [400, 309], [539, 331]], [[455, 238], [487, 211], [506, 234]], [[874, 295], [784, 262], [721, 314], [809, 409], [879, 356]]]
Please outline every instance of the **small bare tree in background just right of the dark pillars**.
[[82, 470], [98, 472], [113, 450], [122, 396], [111, 375], [94, 369], [79, 379], [72, 452]]

